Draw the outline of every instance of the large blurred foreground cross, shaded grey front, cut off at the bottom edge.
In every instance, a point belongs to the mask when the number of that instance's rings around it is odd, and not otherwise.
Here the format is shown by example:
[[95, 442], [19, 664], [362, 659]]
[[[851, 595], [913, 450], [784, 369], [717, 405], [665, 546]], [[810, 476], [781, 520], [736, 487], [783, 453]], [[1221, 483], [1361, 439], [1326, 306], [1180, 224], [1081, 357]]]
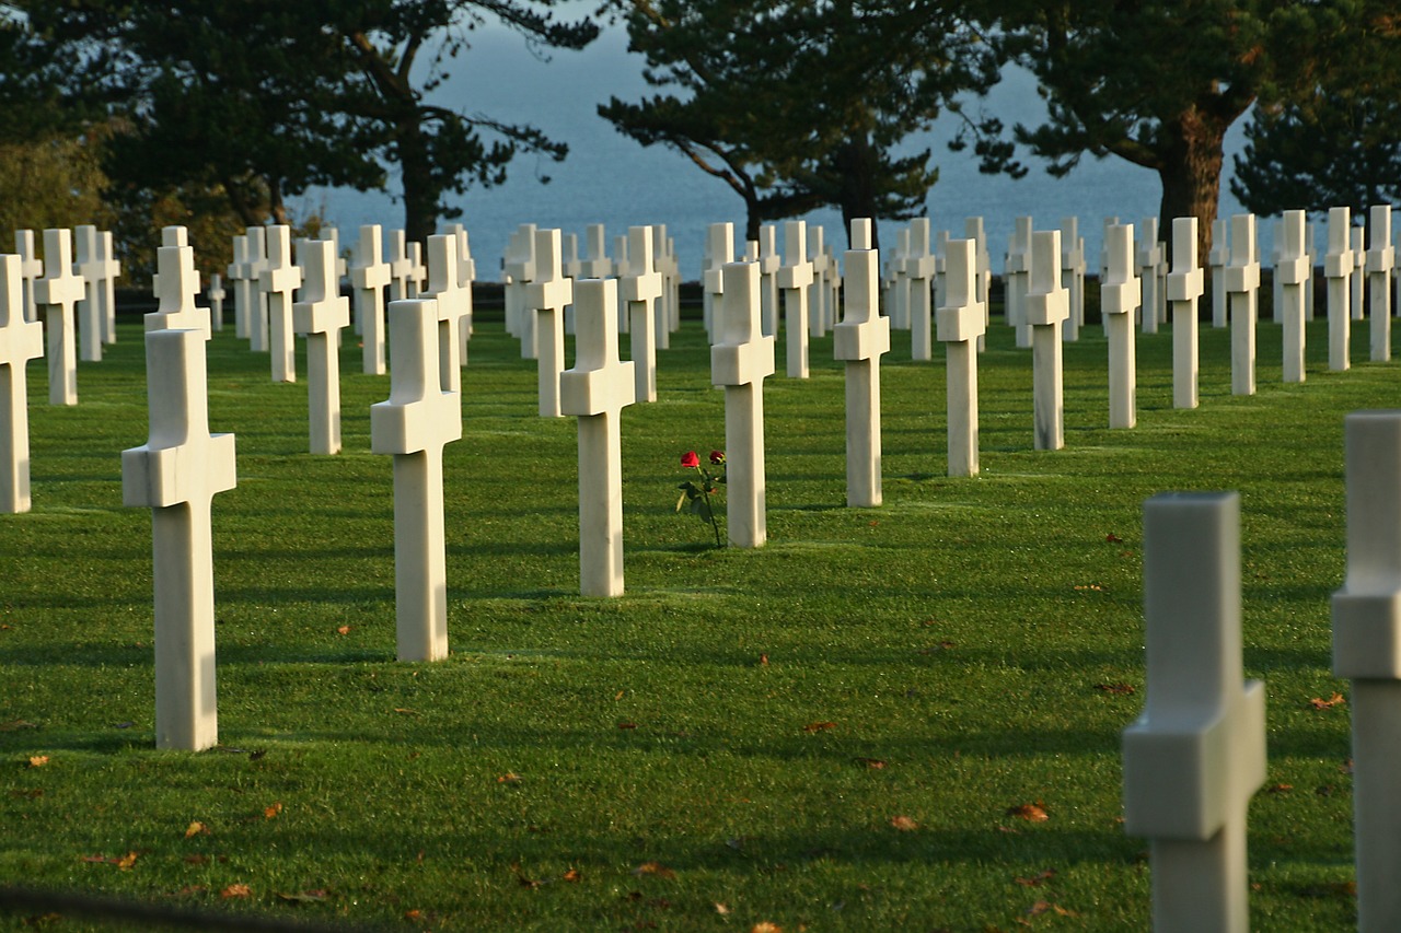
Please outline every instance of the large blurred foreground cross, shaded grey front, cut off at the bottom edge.
[[1124, 829], [1150, 841], [1154, 930], [1250, 930], [1245, 810], [1265, 685], [1241, 682], [1240, 496], [1143, 504], [1147, 699], [1124, 730]]

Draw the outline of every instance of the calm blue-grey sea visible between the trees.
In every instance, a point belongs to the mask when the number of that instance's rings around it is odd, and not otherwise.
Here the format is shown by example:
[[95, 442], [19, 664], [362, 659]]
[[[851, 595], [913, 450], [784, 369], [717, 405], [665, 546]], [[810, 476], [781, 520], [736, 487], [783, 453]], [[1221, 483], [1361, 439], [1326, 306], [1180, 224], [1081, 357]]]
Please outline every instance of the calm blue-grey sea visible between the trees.
[[[462, 220], [479, 277], [497, 277], [506, 240], [521, 223], [577, 233], [580, 247], [584, 227], [602, 223], [609, 255], [614, 237], [626, 234], [629, 226], [664, 223], [675, 238], [686, 279], [699, 277], [708, 224], [734, 221], [743, 231], [744, 205], [729, 186], [678, 153], [660, 146], [643, 148], [597, 115], [598, 104], [611, 95], [639, 99], [647, 91], [642, 57], [628, 53], [626, 35], [621, 29], [605, 31], [583, 52], [553, 52], [549, 62], [532, 55], [518, 35], [500, 27], [481, 28], [471, 36], [472, 48], [450, 63], [451, 77], [434, 99], [468, 113], [531, 123], [570, 147], [563, 163], [532, 156], [517, 158], [504, 185], [472, 189], [462, 198]], [[1035, 83], [1024, 73], [1009, 74], [986, 106], [1007, 125], [1033, 122], [1044, 112]], [[995, 269], [1000, 269], [1000, 255], [1017, 216], [1030, 214], [1038, 230], [1059, 226], [1062, 217], [1077, 216], [1091, 269], [1098, 255], [1103, 217], [1117, 216], [1124, 223], [1139, 224], [1145, 217], [1157, 216], [1157, 175], [1121, 158], [1097, 161], [1087, 157], [1069, 177], [1059, 179], [1047, 175], [1044, 164], [1030, 158], [1026, 161], [1031, 171], [1020, 181], [981, 175], [969, 154], [947, 150], [946, 141], [954, 129], [951, 120], [940, 120], [930, 134], [912, 144], [912, 148], [930, 147], [932, 161], [939, 165], [939, 184], [927, 200], [929, 216], [934, 230], [947, 228], [954, 235], [962, 235], [964, 217], [982, 216]], [[1227, 140], [1227, 151], [1241, 144], [1241, 136], [1237, 125]], [[548, 177], [549, 184], [542, 184], [542, 177]], [[396, 181], [391, 181], [391, 193], [318, 189], [297, 206], [300, 210], [324, 209], [340, 227], [342, 238], [349, 241], [360, 224], [403, 226], [403, 209], [392, 196], [394, 189]], [[1222, 216], [1238, 212], [1236, 199], [1223, 193]], [[827, 228], [828, 242], [834, 242], [838, 252], [845, 249], [838, 212], [814, 212], [807, 220]], [[894, 242], [888, 235], [894, 223], [885, 221], [881, 227], [883, 245], [888, 249]], [[1261, 242], [1262, 249], [1268, 248], [1268, 224], [1261, 227]]]

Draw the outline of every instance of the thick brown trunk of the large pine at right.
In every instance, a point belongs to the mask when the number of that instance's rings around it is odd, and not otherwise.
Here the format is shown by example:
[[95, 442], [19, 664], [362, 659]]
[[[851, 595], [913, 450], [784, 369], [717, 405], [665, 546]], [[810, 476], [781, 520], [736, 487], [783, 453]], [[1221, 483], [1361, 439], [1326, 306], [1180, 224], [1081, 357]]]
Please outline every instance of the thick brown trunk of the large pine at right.
[[1222, 164], [1229, 120], [1192, 108], [1163, 125], [1164, 146], [1157, 175], [1163, 182], [1159, 233], [1173, 249], [1173, 220], [1196, 217], [1196, 262], [1205, 266], [1212, 251], [1212, 224], [1220, 202]]

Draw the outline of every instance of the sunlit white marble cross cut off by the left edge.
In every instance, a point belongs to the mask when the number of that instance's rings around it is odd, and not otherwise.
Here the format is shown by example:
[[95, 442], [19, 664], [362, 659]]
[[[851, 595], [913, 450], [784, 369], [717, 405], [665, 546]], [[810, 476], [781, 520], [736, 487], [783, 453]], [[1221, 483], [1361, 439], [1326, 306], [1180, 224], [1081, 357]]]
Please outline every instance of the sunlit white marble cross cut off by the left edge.
[[24, 317], [22, 261], [0, 255], [0, 513], [29, 511], [25, 364], [43, 356], [43, 325]]

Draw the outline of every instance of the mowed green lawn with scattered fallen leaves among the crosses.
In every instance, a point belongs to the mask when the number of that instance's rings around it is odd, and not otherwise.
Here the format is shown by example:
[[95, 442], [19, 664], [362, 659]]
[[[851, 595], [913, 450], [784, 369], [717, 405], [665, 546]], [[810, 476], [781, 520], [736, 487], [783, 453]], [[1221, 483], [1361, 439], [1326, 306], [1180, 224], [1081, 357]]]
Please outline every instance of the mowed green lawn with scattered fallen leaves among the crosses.
[[[1321, 308], [1320, 308], [1321, 317]], [[140, 324], [80, 367], [76, 408], [29, 367], [34, 511], [0, 517], [0, 883], [399, 929], [1090, 929], [1149, 925], [1124, 834], [1119, 731], [1143, 702], [1142, 503], [1236, 489], [1245, 674], [1268, 691], [1250, 810], [1271, 930], [1355, 922], [1346, 695], [1330, 672], [1342, 420], [1398, 405], [1394, 364], [1230, 395], [1202, 329], [1201, 408], [1171, 408], [1171, 333], [1139, 338], [1139, 426], [1111, 431], [1097, 325], [1065, 347], [1066, 448], [1031, 450], [1031, 356], [979, 357], [982, 475], [946, 474], [944, 367], [881, 367], [884, 497], [845, 506], [831, 336], [766, 381], [768, 534], [706, 548], [674, 514], [679, 457], [724, 443], [698, 321], [660, 401], [622, 416], [626, 587], [579, 595], [576, 426], [537, 416], [535, 363], [483, 321], [447, 450], [451, 657], [401, 664], [392, 486], [370, 454], [388, 377], [342, 353], [345, 451], [307, 450], [305, 385], [230, 331], [210, 426], [220, 747], [156, 751]], [[626, 338], [623, 338], [626, 346]], [[305, 373], [304, 360], [298, 371]], [[1110, 689], [1104, 689], [1110, 688]], [[35, 766], [31, 759], [43, 763]], [[1030, 821], [1019, 810], [1047, 814]], [[192, 824], [199, 824], [193, 827]], [[134, 855], [134, 857], [133, 857]], [[57, 916], [49, 916], [57, 913]], [[77, 913], [32, 922], [101, 927]]]

